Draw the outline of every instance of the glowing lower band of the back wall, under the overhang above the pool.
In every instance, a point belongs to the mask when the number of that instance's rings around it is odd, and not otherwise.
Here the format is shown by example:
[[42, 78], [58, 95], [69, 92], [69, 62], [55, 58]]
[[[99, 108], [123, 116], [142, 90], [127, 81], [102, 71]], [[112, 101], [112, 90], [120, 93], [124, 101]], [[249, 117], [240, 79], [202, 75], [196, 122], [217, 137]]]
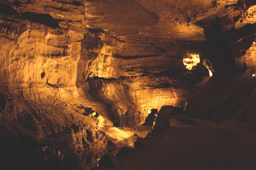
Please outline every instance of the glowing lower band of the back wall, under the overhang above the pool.
[[151, 108], [160, 109], [162, 105], [184, 107], [191, 82], [187, 80], [184, 84], [185, 81], [175, 80], [181, 77], [196, 81], [196, 76], [190, 73], [158, 78], [143, 75], [129, 79], [89, 80], [88, 93], [96, 95], [99, 100], [113, 102], [113, 106], [125, 115], [146, 116]]

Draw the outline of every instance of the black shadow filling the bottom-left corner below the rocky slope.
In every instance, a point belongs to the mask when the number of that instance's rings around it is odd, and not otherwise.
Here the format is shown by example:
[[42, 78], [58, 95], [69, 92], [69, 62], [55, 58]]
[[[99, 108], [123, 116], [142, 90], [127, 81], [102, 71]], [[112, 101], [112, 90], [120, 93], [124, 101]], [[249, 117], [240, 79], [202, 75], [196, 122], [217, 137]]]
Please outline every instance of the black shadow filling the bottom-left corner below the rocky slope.
[[0, 134], [0, 169], [62, 169], [76, 166], [54, 146], [29, 140], [25, 136]]

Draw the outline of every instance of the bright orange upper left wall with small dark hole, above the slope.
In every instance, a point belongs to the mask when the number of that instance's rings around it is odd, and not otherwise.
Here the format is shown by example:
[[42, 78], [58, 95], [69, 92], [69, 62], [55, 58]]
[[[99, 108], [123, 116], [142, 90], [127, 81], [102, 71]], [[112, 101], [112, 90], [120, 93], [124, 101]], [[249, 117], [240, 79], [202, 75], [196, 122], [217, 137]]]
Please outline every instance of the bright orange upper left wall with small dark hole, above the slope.
[[[66, 4], [69, 12], [65, 13], [55, 9], [63, 5], [58, 2], [22, 4], [20, 2], [19, 9], [13, 13], [9, 10], [12, 7], [2, 3], [3, 8], [6, 6], [2, 12], [9, 16], [1, 16], [1, 83], [74, 85], [83, 38], [84, 8]], [[56, 21], [60, 19], [61, 22]]]

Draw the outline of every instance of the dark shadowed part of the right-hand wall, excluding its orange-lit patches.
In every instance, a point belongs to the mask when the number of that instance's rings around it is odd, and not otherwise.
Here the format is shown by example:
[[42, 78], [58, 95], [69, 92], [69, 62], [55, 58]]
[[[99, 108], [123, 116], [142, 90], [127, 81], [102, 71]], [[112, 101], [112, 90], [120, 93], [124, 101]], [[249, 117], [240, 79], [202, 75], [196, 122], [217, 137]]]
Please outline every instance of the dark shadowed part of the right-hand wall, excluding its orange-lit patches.
[[[212, 62], [216, 73], [192, 88], [187, 99], [189, 113], [190, 116], [207, 120], [239, 120], [242, 115], [249, 114], [238, 113], [237, 110], [253, 92], [252, 79], [249, 79], [253, 70], [247, 69], [246, 64], [237, 67], [235, 58], [245, 55], [252, 46], [256, 38], [256, 24], [246, 24], [240, 29], [231, 28], [223, 33], [218, 19], [216, 23], [205, 27], [206, 58]], [[242, 117], [240, 120], [243, 121], [256, 120], [253, 116]]]

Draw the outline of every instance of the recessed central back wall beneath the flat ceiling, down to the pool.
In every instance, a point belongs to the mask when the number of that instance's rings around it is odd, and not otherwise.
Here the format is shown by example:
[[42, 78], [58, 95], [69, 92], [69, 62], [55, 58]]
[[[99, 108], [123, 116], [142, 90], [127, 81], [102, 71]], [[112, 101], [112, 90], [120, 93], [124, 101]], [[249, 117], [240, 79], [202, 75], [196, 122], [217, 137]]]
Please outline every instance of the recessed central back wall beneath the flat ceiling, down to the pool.
[[147, 116], [163, 105], [184, 107], [189, 89], [202, 77], [187, 72], [187, 50], [180, 44], [123, 41], [92, 29], [85, 35], [77, 86], [125, 115]]

